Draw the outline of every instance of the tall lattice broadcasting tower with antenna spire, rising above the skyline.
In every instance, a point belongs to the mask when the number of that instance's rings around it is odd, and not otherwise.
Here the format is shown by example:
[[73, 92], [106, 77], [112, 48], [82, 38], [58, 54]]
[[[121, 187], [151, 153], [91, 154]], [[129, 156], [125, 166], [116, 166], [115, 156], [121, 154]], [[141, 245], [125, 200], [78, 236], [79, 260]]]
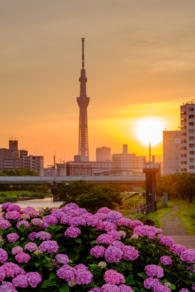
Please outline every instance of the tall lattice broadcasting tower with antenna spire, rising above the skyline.
[[88, 157], [89, 160], [89, 144], [88, 144], [88, 128], [87, 128], [87, 106], [89, 104], [89, 97], [86, 93], [87, 77], [84, 69], [84, 38], [82, 38], [82, 69], [80, 81], [80, 96], [77, 97], [77, 103], [80, 108], [79, 112], [79, 151], [78, 155], [81, 157]]

